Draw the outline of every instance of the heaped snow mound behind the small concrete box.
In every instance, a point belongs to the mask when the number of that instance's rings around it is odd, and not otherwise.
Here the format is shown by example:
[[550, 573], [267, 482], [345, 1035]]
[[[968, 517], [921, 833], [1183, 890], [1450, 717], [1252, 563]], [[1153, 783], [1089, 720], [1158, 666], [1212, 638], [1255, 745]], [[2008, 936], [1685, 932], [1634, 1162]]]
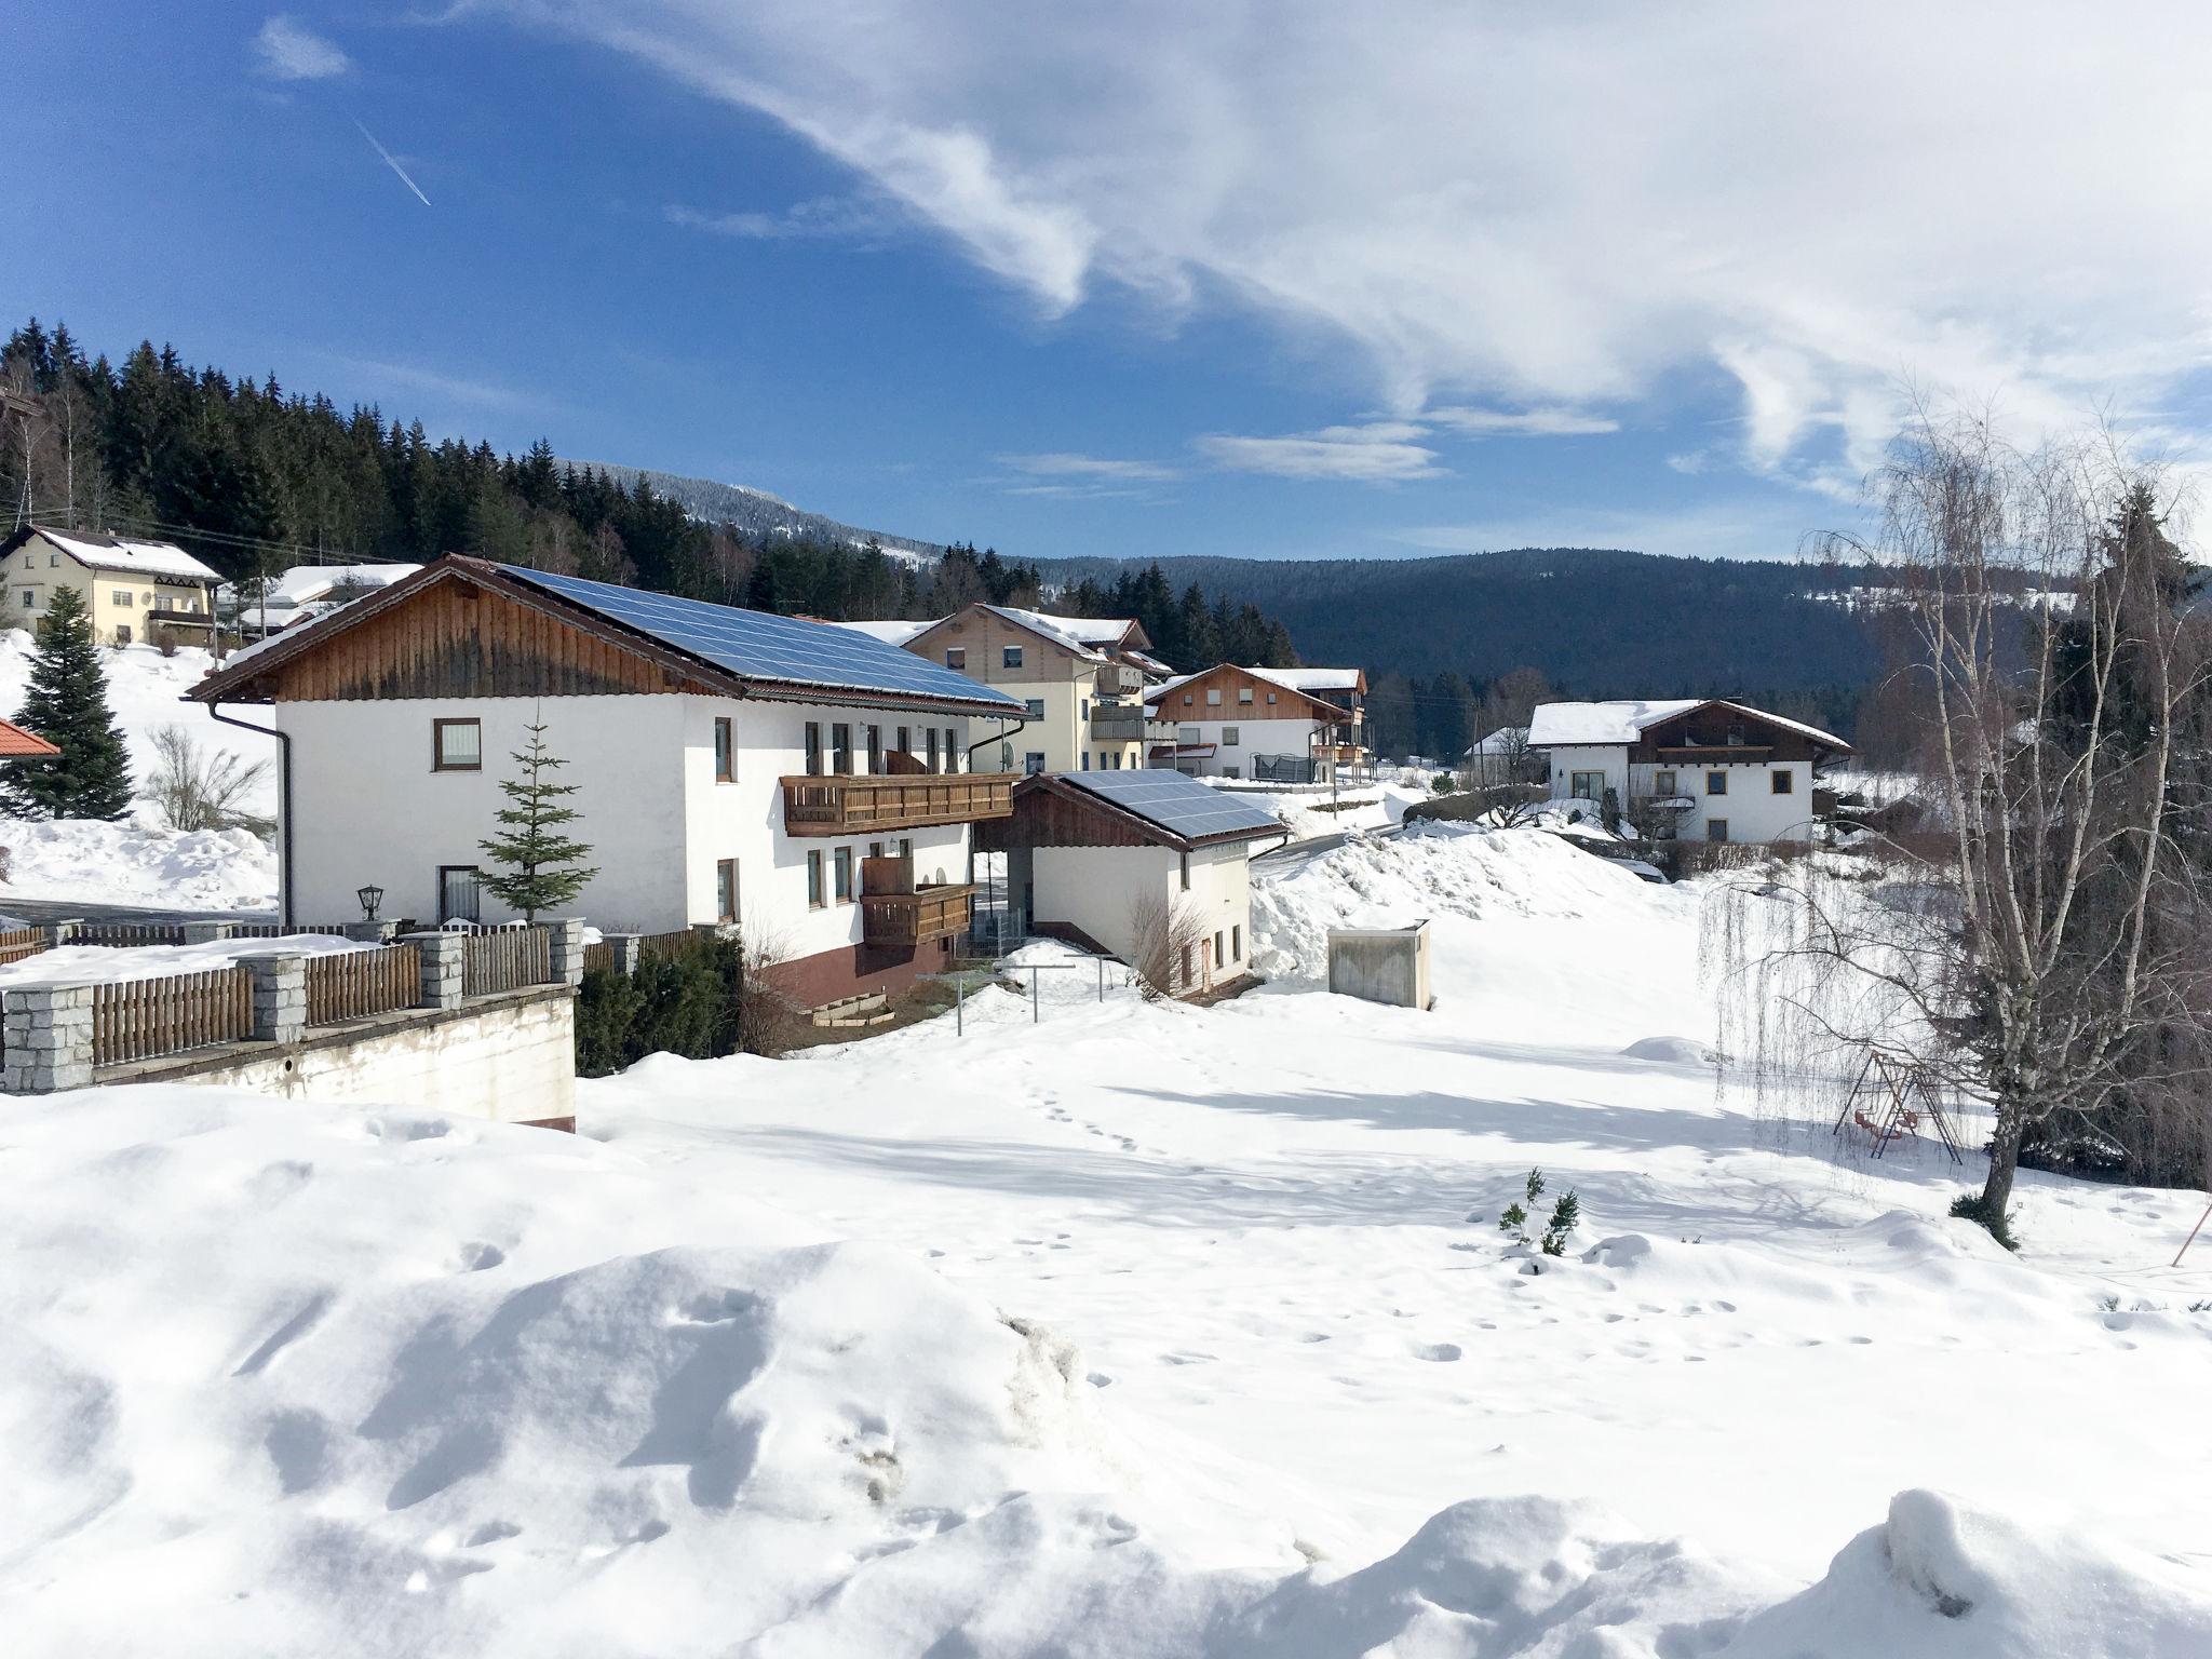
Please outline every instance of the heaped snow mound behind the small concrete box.
[[1252, 867], [1252, 964], [1276, 980], [1318, 982], [1332, 927], [1407, 927], [1500, 916], [1582, 920], [1624, 909], [1681, 916], [1694, 898], [1652, 887], [1542, 830], [1416, 823], [1363, 836], [1281, 872]]

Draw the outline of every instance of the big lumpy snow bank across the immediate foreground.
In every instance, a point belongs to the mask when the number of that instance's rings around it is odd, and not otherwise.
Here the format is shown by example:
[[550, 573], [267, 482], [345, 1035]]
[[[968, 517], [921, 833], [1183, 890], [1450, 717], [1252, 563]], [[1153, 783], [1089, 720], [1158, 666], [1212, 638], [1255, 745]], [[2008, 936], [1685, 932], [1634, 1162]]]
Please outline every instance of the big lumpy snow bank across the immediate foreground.
[[1918, 1491], [1792, 1599], [1579, 1500], [1458, 1502], [1371, 1566], [1305, 1566], [1199, 1502], [1203, 1455], [1119, 1422], [1066, 1340], [732, 1199], [706, 1157], [144, 1086], [0, 1102], [0, 1139], [11, 1652], [2212, 1641], [2172, 1573]]

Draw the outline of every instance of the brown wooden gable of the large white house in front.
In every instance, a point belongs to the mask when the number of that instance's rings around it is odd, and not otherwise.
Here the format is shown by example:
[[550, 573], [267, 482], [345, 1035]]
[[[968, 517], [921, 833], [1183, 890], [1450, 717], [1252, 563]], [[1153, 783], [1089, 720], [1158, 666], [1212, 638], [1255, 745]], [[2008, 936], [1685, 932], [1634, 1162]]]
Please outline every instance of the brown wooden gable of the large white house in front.
[[[356, 604], [372, 602], [356, 599]], [[281, 644], [276, 648], [281, 650]], [[248, 695], [257, 701], [305, 703], [681, 690], [728, 688], [710, 686], [500, 588], [442, 580], [422, 584], [354, 626], [332, 630], [307, 650], [270, 664], [268, 675], [259, 677], [254, 692]]]

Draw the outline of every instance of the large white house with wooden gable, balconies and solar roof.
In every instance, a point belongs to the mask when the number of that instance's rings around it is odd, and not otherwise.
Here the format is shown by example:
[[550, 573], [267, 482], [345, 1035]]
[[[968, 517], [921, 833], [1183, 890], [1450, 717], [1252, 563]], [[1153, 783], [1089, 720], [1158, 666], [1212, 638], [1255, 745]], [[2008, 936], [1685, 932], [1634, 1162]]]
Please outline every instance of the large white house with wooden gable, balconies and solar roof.
[[239, 653], [192, 697], [268, 703], [288, 920], [500, 918], [480, 841], [529, 726], [577, 785], [602, 929], [741, 925], [794, 1000], [898, 989], [969, 911], [969, 750], [1004, 692], [799, 617], [442, 557]]

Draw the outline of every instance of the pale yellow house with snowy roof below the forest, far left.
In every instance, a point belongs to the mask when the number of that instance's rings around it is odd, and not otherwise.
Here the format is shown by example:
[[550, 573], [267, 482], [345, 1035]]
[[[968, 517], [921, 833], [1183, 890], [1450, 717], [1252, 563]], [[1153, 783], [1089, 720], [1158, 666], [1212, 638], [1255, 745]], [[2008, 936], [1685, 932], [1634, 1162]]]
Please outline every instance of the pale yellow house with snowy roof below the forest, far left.
[[0, 542], [0, 626], [38, 628], [53, 595], [75, 588], [104, 646], [159, 641], [164, 633], [206, 646], [221, 580], [170, 542], [27, 524]]

